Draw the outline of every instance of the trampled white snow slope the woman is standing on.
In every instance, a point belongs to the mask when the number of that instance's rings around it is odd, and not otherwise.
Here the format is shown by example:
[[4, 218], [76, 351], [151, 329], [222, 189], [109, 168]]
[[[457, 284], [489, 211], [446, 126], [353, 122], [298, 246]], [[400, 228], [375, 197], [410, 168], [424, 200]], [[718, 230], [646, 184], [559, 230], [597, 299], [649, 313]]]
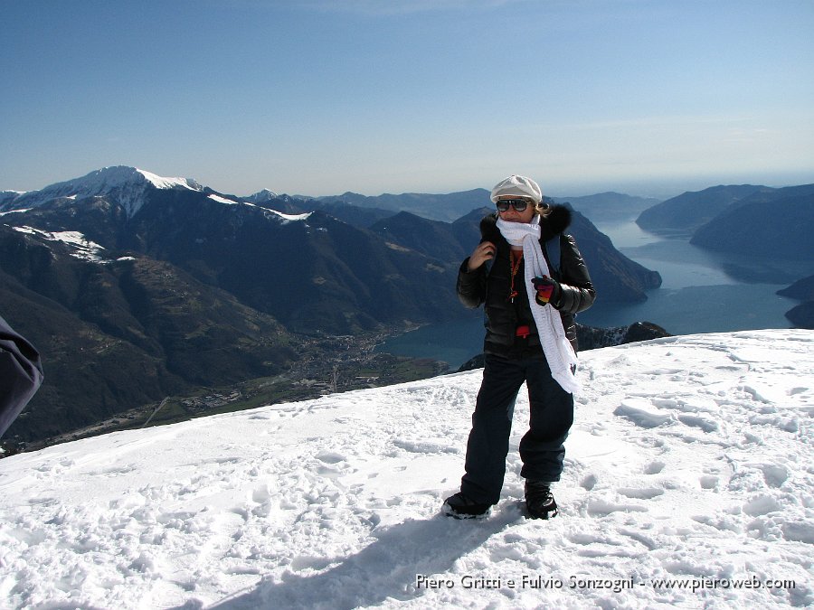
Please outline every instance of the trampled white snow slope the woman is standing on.
[[814, 605], [814, 332], [581, 355], [562, 506], [457, 490], [481, 372], [90, 438], [0, 461], [0, 606]]

